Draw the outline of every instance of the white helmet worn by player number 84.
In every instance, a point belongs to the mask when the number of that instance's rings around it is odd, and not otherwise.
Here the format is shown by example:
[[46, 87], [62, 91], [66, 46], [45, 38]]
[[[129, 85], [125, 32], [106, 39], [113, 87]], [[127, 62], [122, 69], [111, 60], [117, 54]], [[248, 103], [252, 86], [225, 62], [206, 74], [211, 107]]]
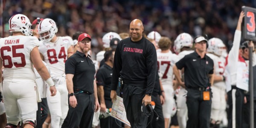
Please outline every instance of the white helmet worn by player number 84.
[[56, 23], [49, 18], [40, 21], [38, 25], [38, 34], [41, 41], [45, 43], [52, 40], [55, 34], [58, 32]]

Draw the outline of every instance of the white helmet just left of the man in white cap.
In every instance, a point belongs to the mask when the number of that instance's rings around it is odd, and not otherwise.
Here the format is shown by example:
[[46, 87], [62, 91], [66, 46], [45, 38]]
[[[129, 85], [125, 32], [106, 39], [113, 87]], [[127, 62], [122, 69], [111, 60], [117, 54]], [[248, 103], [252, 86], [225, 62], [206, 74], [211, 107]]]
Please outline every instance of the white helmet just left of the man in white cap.
[[174, 41], [174, 51], [178, 54], [180, 53], [180, 49], [183, 47], [192, 48], [193, 46], [193, 38], [188, 33], [181, 33], [177, 36], [176, 40]]

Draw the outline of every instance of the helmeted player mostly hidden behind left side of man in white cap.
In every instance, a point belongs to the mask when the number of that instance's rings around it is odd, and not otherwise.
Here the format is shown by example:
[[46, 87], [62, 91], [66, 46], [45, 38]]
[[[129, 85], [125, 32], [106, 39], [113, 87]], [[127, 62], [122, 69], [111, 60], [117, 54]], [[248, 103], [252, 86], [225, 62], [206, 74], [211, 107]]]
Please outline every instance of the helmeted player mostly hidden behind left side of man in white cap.
[[[191, 50], [193, 46], [193, 38], [188, 33], [181, 33], [177, 36], [176, 40], [174, 41], [174, 51], [178, 54], [177, 61], [183, 58], [185, 55], [188, 55], [192, 52]], [[180, 73], [183, 74], [183, 73]], [[182, 75], [183, 76], [183, 75]], [[183, 77], [182, 77], [183, 78]], [[184, 79], [183, 79], [184, 81]], [[183, 87], [178, 87], [178, 96], [177, 96], [177, 120], [179, 123], [180, 128], [186, 128], [186, 122], [188, 120], [187, 117], [187, 106], [186, 106], [186, 95], [187, 91]]]

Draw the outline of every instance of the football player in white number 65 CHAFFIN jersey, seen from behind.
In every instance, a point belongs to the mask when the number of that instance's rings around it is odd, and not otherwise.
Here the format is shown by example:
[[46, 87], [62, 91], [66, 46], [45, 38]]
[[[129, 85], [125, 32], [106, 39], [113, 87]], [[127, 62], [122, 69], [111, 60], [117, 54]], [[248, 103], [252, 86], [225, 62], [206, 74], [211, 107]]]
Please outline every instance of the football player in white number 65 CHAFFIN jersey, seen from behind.
[[34, 128], [36, 125], [37, 101], [40, 96], [35, 84], [33, 65], [49, 84], [51, 96], [56, 94], [54, 82], [40, 58], [38, 38], [30, 36], [30, 27], [28, 17], [14, 15], [9, 20], [12, 36], [0, 39], [0, 67], [5, 67], [3, 100], [7, 117], [6, 128], [16, 128], [20, 121], [22, 128]]

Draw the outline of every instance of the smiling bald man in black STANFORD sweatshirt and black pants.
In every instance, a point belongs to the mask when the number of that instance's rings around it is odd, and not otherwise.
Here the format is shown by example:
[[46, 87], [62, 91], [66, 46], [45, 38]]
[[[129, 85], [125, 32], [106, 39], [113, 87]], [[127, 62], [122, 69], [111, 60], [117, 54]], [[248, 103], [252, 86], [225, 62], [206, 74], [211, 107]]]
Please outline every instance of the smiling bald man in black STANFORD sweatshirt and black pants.
[[154, 45], [142, 36], [143, 23], [135, 19], [130, 24], [131, 38], [117, 44], [114, 56], [111, 99], [116, 99], [118, 78], [124, 80], [123, 103], [132, 128], [146, 128], [147, 116], [141, 105], [151, 103], [157, 73], [157, 53]]

